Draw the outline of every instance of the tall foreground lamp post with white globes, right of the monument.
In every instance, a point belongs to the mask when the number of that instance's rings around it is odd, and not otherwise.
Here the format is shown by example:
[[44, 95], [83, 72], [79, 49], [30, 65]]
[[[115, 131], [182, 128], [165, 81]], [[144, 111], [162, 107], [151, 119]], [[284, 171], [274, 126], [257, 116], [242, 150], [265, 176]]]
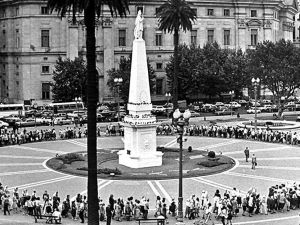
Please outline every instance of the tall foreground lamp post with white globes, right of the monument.
[[177, 221], [183, 222], [183, 197], [182, 197], [182, 136], [184, 132], [184, 126], [188, 124], [191, 112], [186, 109], [184, 113], [181, 113], [179, 109], [176, 109], [173, 113], [174, 125], [177, 127], [177, 133], [179, 137], [177, 142], [179, 143], [179, 193], [178, 193], [178, 216]]

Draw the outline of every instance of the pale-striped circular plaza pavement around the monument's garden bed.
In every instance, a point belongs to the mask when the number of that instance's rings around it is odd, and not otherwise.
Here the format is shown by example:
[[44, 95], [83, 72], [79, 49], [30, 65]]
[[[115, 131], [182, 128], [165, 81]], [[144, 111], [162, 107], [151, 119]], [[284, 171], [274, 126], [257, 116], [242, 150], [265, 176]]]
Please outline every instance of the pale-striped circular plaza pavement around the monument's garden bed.
[[[157, 144], [176, 147], [175, 136], [158, 136]], [[98, 148], [122, 148], [122, 137], [100, 137]], [[184, 147], [193, 146], [194, 150], [214, 150], [222, 152], [234, 160], [234, 168], [223, 173], [185, 178], [183, 182], [184, 199], [192, 194], [201, 196], [202, 190], [207, 190], [210, 198], [216, 189], [221, 193], [232, 190], [233, 187], [245, 193], [254, 187], [261, 195], [268, 194], [268, 188], [286, 182], [300, 183], [300, 147], [285, 144], [254, 142], [241, 139], [221, 139], [209, 137], [188, 137]], [[244, 149], [249, 147], [250, 154], [257, 156], [258, 166], [251, 170], [250, 163], [245, 162]], [[58, 191], [62, 199], [69, 194], [74, 198], [77, 193], [86, 194], [86, 177], [73, 176], [53, 171], [46, 167], [46, 161], [57, 153], [79, 152], [86, 150], [86, 139], [60, 140], [39, 142], [24, 145], [6, 146], [0, 148], [0, 180], [8, 185], [10, 190], [18, 187], [20, 192], [27, 189], [29, 193], [36, 190], [42, 195], [45, 190], [50, 194]], [[184, 171], [183, 171], [184, 172]], [[99, 179], [99, 196], [108, 201], [110, 194], [115, 198], [133, 196], [140, 199], [146, 196], [150, 199], [150, 208], [154, 208], [157, 195], [165, 197], [167, 203], [178, 196], [177, 179], [160, 180], [106, 180]], [[151, 212], [150, 212], [151, 215]], [[240, 214], [241, 215], [241, 214]], [[12, 219], [12, 217], [10, 218]], [[299, 210], [276, 213], [272, 215], [255, 215], [251, 218], [239, 216], [234, 218], [234, 224], [299, 224]], [[217, 222], [216, 224], [219, 224]], [[121, 223], [120, 223], [121, 224]]]

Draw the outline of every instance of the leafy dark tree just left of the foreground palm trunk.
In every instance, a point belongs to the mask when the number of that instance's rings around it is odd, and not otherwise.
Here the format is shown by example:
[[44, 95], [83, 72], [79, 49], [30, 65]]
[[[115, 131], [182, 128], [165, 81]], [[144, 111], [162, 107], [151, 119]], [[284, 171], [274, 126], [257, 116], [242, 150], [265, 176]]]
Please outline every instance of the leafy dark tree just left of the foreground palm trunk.
[[82, 58], [59, 57], [53, 71], [52, 94], [55, 102], [70, 102], [75, 97], [86, 101], [87, 69]]

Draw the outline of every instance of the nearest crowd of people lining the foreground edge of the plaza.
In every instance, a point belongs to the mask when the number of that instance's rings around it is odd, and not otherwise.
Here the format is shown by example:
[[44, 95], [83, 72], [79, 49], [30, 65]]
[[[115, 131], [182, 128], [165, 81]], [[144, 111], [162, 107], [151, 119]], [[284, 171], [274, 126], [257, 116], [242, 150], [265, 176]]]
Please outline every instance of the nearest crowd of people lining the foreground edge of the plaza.
[[[296, 182], [274, 185], [266, 192], [267, 196], [261, 195], [251, 187], [247, 192], [233, 188], [221, 193], [217, 189], [211, 195], [212, 192], [203, 190], [200, 196], [193, 194], [186, 199], [184, 217], [194, 220], [194, 224], [208, 224], [219, 220], [223, 225], [227, 225], [232, 224], [232, 219], [237, 216], [268, 215], [300, 208], [300, 185]], [[152, 214], [149, 216], [150, 200], [145, 196], [140, 199], [131, 196], [124, 200], [114, 198], [111, 194], [106, 202], [101, 198], [98, 199], [99, 220], [106, 221], [107, 225], [111, 224], [112, 219], [131, 221], [152, 217]], [[168, 217], [177, 216], [174, 198], [167, 203], [165, 198], [157, 196], [152, 204], [155, 206], [153, 215], [156, 218], [168, 221]], [[56, 223], [60, 223], [62, 218], [80, 220], [84, 223], [88, 214], [87, 206], [87, 197], [81, 194], [72, 199], [67, 195], [62, 199], [58, 191], [53, 195], [47, 191], [42, 195], [35, 190], [29, 193], [26, 189], [19, 193], [18, 188], [10, 191], [7, 186], [0, 183], [0, 207], [4, 215], [20, 212], [37, 218], [41, 215], [52, 215]]]

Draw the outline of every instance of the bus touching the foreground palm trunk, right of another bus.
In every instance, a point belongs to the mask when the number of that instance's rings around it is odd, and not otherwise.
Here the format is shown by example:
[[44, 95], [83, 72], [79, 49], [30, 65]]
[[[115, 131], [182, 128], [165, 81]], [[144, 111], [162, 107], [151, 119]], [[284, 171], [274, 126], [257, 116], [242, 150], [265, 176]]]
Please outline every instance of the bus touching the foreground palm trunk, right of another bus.
[[74, 111], [85, 110], [83, 102], [58, 102], [50, 103], [48, 105], [48, 110], [53, 110], [55, 114], [57, 113], [72, 113]]

